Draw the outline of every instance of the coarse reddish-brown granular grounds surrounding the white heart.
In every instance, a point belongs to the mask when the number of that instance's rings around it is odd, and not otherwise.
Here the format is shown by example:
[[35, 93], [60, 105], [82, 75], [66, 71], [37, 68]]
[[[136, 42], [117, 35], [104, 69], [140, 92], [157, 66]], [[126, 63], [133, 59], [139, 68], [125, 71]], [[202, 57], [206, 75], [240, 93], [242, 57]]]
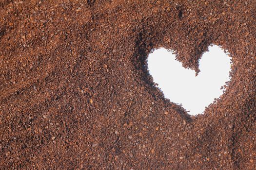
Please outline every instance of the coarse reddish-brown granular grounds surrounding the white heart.
[[[189, 116], [146, 58], [211, 43], [232, 81]], [[255, 170], [255, 79], [256, 0], [0, 0], [0, 169]]]

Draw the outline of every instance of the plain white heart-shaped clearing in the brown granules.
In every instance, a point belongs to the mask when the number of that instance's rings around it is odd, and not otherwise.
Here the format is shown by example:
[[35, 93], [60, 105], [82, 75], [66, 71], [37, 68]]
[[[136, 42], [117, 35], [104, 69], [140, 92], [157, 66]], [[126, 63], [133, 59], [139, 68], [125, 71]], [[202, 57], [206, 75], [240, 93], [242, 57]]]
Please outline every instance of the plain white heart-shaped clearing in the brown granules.
[[217, 45], [209, 46], [199, 60], [196, 76], [194, 70], [182, 67], [173, 52], [160, 48], [150, 53], [149, 73], [171, 102], [182, 104], [191, 115], [203, 113], [223, 94], [221, 86], [230, 81], [231, 57]]

